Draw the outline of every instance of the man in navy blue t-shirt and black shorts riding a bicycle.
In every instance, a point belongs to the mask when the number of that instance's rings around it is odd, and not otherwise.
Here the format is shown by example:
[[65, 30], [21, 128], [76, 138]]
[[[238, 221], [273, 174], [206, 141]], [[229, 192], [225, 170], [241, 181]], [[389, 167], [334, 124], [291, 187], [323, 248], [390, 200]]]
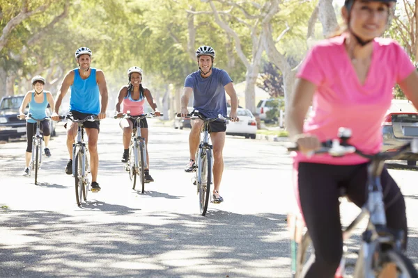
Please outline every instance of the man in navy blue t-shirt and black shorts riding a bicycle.
[[[217, 117], [218, 114], [226, 116], [226, 95], [231, 98], [231, 113], [229, 117], [232, 121], [238, 121], [237, 108], [238, 97], [233, 88], [231, 77], [224, 70], [212, 67], [215, 59], [215, 50], [212, 47], [202, 46], [196, 50], [197, 64], [199, 70], [193, 72], [186, 77], [185, 88], [181, 97], [181, 115], [187, 116], [187, 104], [189, 98], [193, 94], [193, 108], [199, 111], [203, 116], [208, 118]], [[192, 130], [189, 134], [189, 151], [190, 161], [185, 167], [185, 172], [193, 172], [196, 168], [194, 158], [199, 147], [199, 133], [201, 132], [201, 120], [192, 121]], [[225, 145], [226, 123], [224, 121], [210, 122], [210, 139], [213, 145], [213, 202], [220, 203], [224, 199], [219, 195], [219, 186], [222, 180], [222, 172], [224, 172], [224, 158], [222, 151]]]

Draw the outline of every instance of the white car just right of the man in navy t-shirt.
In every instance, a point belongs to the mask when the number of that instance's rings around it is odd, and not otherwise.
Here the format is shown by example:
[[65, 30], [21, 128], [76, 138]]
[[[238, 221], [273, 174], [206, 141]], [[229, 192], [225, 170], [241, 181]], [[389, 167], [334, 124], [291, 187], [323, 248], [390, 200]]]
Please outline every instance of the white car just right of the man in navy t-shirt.
[[[228, 108], [228, 115], [231, 108]], [[226, 135], [245, 136], [245, 138], [256, 138], [257, 122], [251, 111], [246, 108], [238, 108], [237, 115], [239, 122], [226, 121]]]

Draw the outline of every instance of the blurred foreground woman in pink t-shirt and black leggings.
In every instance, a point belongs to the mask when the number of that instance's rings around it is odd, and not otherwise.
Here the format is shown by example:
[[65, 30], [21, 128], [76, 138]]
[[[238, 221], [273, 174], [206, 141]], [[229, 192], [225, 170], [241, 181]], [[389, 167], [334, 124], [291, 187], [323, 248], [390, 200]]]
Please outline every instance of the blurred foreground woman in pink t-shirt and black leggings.
[[[364, 153], [380, 151], [381, 123], [395, 83], [418, 108], [418, 74], [394, 40], [378, 38], [385, 31], [396, 0], [346, 0], [347, 23], [341, 35], [320, 42], [297, 74], [287, 108], [286, 125], [299, 146], [294, 158], [297, 199], [315, 249], [304, 277], [334, 277], [343, 253], [339, 188], [357, 205], [366, 202], [366, 165], [356, 154], [341, 158], [307, 157], [320, 142], [336, 138], [340, 126], [353, 131], [350, 144]], [[304, 123], [309, 106], [311, 118]], [[405, 231], [405, 201], [387, 170], [382, 172], [387, 226]], [[405, 247], [404, 246], [404, 247]]]

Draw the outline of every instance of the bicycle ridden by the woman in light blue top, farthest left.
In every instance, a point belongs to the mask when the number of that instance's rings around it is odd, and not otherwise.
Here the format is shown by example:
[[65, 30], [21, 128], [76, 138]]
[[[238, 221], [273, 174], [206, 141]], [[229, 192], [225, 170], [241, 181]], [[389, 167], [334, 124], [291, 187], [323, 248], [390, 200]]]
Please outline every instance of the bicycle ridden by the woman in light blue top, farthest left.
[[[19, 115], [17, 115], [17, 119], [19, 120], [36, 120], [36, 133], [32, 136], [32, 156], [31, 162], [29, 164], [29, 176], [31, 176], [32, 171], [35, 171], [35, 184], [38, 184], [38, 170], [40, 169], [40, 164], [42, 163], [42, 142], [43, 136], [40, 133], [40, 122], [43, 120], [50, 120], [49, 117], [44, 117], [43, 119], [35, 119], [32, 117], [31, 114], [26, 115], [24, 119], [20, 119]], [[28, 138], [29, 140], [29, 138]]]

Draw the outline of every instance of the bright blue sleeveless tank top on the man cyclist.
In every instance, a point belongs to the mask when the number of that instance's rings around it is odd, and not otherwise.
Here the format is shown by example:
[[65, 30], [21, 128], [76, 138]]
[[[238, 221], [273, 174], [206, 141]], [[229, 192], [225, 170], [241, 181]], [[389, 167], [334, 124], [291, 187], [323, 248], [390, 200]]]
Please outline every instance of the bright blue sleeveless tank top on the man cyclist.
[[82, 79], [79, 69], [75, 69], [74, 82], [70, 88], [70, 111], [95, 115], [100, 113], [100, 92], [96, 81], [96, 69], [91, 68], [90, 76], [87, 79]]

